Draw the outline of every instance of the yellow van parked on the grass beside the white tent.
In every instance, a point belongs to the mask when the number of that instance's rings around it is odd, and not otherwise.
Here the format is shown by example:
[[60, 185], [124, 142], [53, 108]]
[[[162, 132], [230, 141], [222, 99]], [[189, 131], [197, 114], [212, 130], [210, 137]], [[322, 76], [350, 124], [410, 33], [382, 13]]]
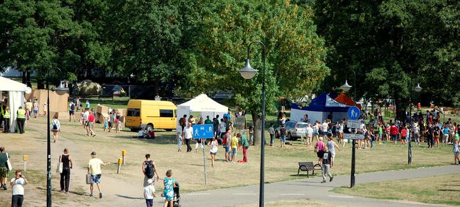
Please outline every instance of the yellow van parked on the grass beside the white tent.
[[125, 127], [135, 132], [138, 129], [176, 129], [177, 107], [170, 101], [130, 100], [127, 102]]

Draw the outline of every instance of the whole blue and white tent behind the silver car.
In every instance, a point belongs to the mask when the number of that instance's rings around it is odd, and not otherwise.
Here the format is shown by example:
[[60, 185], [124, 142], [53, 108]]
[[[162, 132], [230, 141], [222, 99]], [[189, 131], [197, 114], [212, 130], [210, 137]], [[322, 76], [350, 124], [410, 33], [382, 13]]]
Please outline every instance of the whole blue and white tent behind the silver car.
[[333, 112], [333, 121], [339, 121], [346, 117], [346, 113], [350, 107], [337, 102], [328, 93], [323, 92], [306, 107], [292, 103], [290, 120], [301, 121], [304, 119], [304, 115], [307, 114], [310, 122], [322, 122], [328, 117], [330, 112]]

